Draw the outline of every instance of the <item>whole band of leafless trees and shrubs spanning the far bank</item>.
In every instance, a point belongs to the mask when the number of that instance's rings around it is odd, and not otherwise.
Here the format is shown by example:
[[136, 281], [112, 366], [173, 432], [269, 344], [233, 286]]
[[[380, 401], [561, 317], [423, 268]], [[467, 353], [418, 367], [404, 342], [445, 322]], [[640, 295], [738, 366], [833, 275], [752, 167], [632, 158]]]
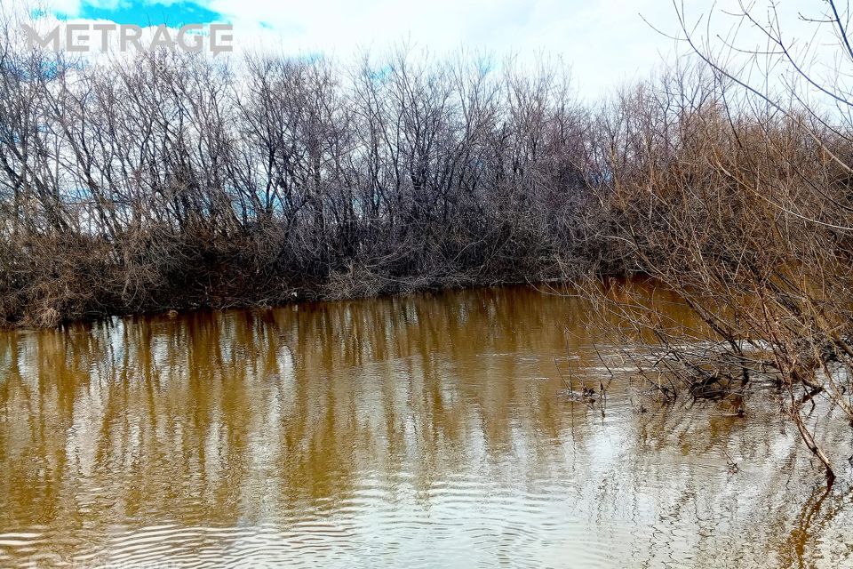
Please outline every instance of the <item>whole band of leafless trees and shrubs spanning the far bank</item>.
[[[693, 69], [585, 107], [559, 65], [406, 52], [82, 64], [7, 41], [0, 324], [674, 278], [697, 254], [749, 267], [777, 254], [781, 234], [753, 222], [778, 220], [763, 207], [775, 187], [793, 200], [776, 260], [846, 247], [848, 177], [818, 142], [843, 154], [843, 137], [814, 116], [739, 112], [729, 84]], [[820, 241], [798, 212], [826, 224]]]

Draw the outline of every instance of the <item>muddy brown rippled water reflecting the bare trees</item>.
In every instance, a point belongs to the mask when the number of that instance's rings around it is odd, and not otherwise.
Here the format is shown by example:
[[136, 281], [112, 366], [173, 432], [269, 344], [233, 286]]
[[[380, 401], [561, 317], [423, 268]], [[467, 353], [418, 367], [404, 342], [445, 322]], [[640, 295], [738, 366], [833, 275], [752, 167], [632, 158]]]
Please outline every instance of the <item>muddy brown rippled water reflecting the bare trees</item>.
[[587, 316], [511, 287], [0, 333], [0, 566], [853, 567], [842, 421], [825, 493], [770, 390], [618, 380], [602, 416], [554, 363], [606, 377]]

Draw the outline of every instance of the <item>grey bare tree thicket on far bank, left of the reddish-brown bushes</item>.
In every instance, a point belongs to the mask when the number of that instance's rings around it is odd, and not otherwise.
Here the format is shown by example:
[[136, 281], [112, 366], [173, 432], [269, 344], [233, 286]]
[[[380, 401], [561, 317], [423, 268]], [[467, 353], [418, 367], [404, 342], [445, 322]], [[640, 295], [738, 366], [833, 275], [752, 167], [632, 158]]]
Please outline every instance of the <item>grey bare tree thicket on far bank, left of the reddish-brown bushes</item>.
[[561, 68], [0, 60], [0, 323], [539, 280], [588, 248]]

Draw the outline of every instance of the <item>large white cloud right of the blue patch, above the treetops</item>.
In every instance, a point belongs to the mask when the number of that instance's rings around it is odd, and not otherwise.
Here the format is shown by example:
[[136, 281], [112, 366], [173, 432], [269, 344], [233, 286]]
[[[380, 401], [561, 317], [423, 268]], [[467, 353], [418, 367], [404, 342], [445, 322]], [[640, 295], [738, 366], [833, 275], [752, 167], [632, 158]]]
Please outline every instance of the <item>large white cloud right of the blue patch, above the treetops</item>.
[[[212, 10], [235, 23], [235, 44], [275, 46], [287, 52], [356, 50], [381, 52], [403, 41], [430, 52], [466, 49], [540, 53], [562, 57], [573, 68], [581, 92], [595, 93], [635, 76], [645, 76], [671, 52], [673, 43], [643, 22], [674, 24], [671, 6], [660, 0], [213, 0]], [[269, 28], [264, 28], [261, 23]]]

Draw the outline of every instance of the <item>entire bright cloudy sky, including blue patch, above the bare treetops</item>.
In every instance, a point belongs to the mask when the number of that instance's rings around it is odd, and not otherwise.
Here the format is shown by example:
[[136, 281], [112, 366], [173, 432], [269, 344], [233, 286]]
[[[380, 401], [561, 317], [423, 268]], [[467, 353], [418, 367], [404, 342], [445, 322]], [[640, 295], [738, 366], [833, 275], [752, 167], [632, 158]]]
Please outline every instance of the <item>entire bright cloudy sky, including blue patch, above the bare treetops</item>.
[[[648, 76], [663, 60], [672, 61], [683, 51], [651, 27], [679, 32], [671, 0], [46, 0], [36, 11], [32, 0], [12, 2], [28, 6], [29, 13], [65, 20], [142, 27], [165, 23], [176, 28], [230, 23], [238, 51], [261, 47], [347, 57], [408, 42], [438, 54], [462, 46], [498, 56], [516, 52], [528, 59], [548, 53], [570, 63], [578, 91], [585, 96]], [[721, 28], [712, 37], [732, 24], [723, 9], [737, 8], [737, 0], [684, 4], [691, 21], [715, 6], [714, 21]], [[801, 4], [814, 4], [815, 15], [825, 9], [820, 0], [781, 4], [786, 29], [801, 36], [805, 28], [796, 18]], [[759, 13], [766, 16], [766, 9]]]

